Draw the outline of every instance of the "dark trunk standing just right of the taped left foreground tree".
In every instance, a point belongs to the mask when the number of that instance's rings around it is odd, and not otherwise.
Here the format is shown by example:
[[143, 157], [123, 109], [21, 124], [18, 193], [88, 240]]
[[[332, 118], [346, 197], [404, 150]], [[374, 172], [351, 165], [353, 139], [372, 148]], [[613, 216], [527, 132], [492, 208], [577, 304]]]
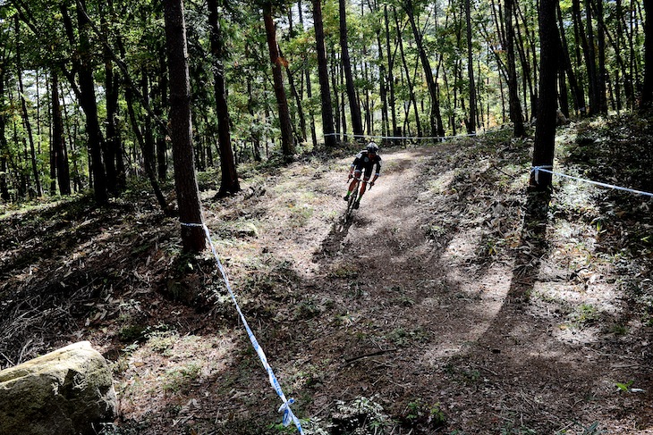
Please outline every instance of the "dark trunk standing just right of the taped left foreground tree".
[[210, 39], [213, 77], [215, 80], [217, 134], [220, 146], [220, 170], [222, 172], [217, 196], [225, 197], [227, 194], [238, 192], [241, 185], [238, 182], [236, 163], [233, 161], [229, 107], [227, 106], [225, 91], [225, 68], [222, 63], [225, 47], [217, 21], [217, 0], [208, 0], [208, 24], [211, 27]]

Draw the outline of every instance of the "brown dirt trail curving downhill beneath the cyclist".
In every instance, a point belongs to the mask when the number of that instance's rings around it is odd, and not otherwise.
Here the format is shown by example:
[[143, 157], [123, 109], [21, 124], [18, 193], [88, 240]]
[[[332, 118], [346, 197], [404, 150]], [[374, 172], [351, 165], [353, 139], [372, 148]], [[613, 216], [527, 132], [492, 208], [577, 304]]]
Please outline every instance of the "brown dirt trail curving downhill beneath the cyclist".
[[[300, 328], [310, 363], [323, 370], [312, 408], [374, 396], [394, 415], [416, 400], [439, 404], [448, 430], [464, 433], [584, 433], [595, 422], [607, 433], [653, 433], [650, 393], [615, 390], [626, 379], [653, 389], [641, 356], [592, 338], [592, 328], [576, 338], [559, 327], [564, 314], [553, 305], [523, 300], [524, 286], [560, 284], [546, 276], [555, 264], [521, 264], [519, 255], [477, 264], [484, 219], [427, 236], [447, 201], [487, 202], [480, 206], [488, 216], [497, 209], [496, 198], [461, 192], [433, 200], [427, 184], [452, 180], [454, 168], [441, 164], [448, 151], [383, 154], [384, 175], [353, 222], [334, 222], [313, 250], [310, 284], [301, 291], [333, 308]], [[344, 208], [344, 173], [319, 180], [343, 185], [329, 191], [335, 199], [327, 206]], [[308, 264], [311, 252], [298, 252]]]

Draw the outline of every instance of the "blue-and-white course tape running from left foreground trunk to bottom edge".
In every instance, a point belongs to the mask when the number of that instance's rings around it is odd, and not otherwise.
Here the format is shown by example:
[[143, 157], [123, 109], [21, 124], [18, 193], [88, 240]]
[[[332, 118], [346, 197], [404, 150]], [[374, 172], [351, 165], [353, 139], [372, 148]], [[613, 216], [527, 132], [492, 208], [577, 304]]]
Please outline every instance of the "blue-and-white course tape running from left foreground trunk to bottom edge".
[[207, 226], [204, 223], [183, 223], [183, 222], [182, 225], [187, 227], [201, 227], [204, 229], [204, 234], [208, 240], [208, 244], [211, 247], [211, 252], [213, 253], [213, 256], [216, 258], [217, 268], [222, 274], [223, 280], [225, 280], [226, 289], [229, 290], [229, 295], [233, 300], [233, 305], [236, 306], [236, 310], [238, 311], [238, 314], [240, 314], [241, 316], [241, 321], [242, 324], [245, 326], [245, 330], [247, 330], [247, 335], [250, 338], [251, 346], [254, 347], [254, 350], [256, 350], [256, 353], [257, 355], [259, 355], [263, 367], [266, 369], [267, 378], [270, 381], [270, 385], [272, 385], [272, 388], [275, 389], [276, 394], [281, 398], [283, 402], [282, 405], [279, 407], [278, 412], [284, 413], [284, 426], [288, 426], [290, 425], [291, 422], [294, 422], [295, 426], [297, 426], [297, 430], [300, 431], [301, 435], [303, 435], [304, 432], [301, 430], [301, 422], [295, 416], [295, 414], [293, 414], [293, 410], [290, 408], [290, 406], [293, 405], [294, 403], [294, 399], [285, 398], [284, 391], [281, 389], [281, 385], [279, 385], [279, 381], [276, 380], [275, 372], [272, 371], [272, 367], [270, 367], [270, 364], [267, 363], [266, 354], [263, 352], [263, 349], [259, 346], [259, 341], [256, 339], [256, 337], [254, 337], [254, 333], [251, 331], [250, 325], [245, 320], [245, 316], [242, 314], [241, 307], [240, 305], [238, 305], [238, 302], [236, 301], [236, 297], [233, 294], [231, 284], [229, 283], [229, 279], [226, 276], [225, 268], [220, 262], [220, 257], [217, 255], [216, 246], [213, 244], [213, 240], [211, 239], [211, 234], [208, 232]]

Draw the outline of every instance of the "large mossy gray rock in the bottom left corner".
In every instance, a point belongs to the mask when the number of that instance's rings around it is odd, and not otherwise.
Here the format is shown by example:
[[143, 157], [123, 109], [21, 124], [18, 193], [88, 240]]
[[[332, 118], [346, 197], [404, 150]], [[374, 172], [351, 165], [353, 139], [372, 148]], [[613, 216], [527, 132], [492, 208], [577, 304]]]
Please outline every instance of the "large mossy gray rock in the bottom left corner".
[[2, 435], [95, 434], [117, 405], [111, 370], [88, 341], [0, 372]]

